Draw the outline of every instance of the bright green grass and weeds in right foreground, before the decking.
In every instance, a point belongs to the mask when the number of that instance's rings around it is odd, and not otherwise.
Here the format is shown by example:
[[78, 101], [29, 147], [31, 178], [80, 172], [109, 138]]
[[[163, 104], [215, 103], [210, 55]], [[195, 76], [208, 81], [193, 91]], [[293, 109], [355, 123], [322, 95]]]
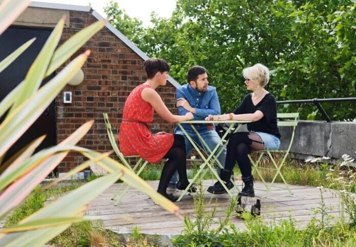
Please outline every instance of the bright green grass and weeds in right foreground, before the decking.
[[[196, 218], [192, 220], [185, 216], [182, 235], [173, 239], [173, 243], [175, 246], [354, 246], [356, 219], [351, 217], [351, 224], [339, 219], [334, 226], [328, 227], [332, 218], [326, 214], [329, 208], [325, 206], [323, 190], [320, 188], [319, 207], [315, 209], [315, 214], [304, 230], [298, 229], [298, 223], [292, 217], [280, 223], [276, 221], [266, 223], [263, 216], [253, 217], [249, 213], [243, 213], [240, 217], [245, 219], [246, 230], [241, 231], [229, 221], [236, 199], [231, 200], [226, 215], [220, 219], [218, 227], [210, 228], [215, 210], [210, 213], [205, 211], [206, 204], [211, 201], [205, 202], [203, 191], [200, 189], [195, 203]], [[350, 206], [344, 200], [343, 203], [346, 207]], [[355, 205], [353, 200], [351, 205]], [[356, 208], [352, 210], [354, 214]]]

